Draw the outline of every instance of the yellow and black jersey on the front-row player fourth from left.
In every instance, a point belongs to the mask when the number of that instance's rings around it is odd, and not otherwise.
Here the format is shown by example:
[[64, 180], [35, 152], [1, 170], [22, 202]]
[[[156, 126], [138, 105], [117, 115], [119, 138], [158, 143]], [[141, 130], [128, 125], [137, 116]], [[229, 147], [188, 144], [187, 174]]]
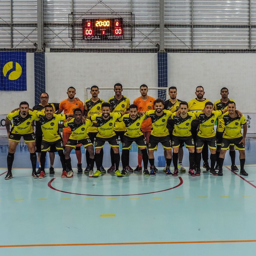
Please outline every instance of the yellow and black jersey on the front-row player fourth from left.
[[121, 113], [110, 113], [109, 118], [106, 120], [102, 114], [95, 114], [90, 116], [91, 121], [96, 121], [98, 127], [97, 137], [108, 139], [115, 135], [114, 127], [116, 119], [121, 117]]

